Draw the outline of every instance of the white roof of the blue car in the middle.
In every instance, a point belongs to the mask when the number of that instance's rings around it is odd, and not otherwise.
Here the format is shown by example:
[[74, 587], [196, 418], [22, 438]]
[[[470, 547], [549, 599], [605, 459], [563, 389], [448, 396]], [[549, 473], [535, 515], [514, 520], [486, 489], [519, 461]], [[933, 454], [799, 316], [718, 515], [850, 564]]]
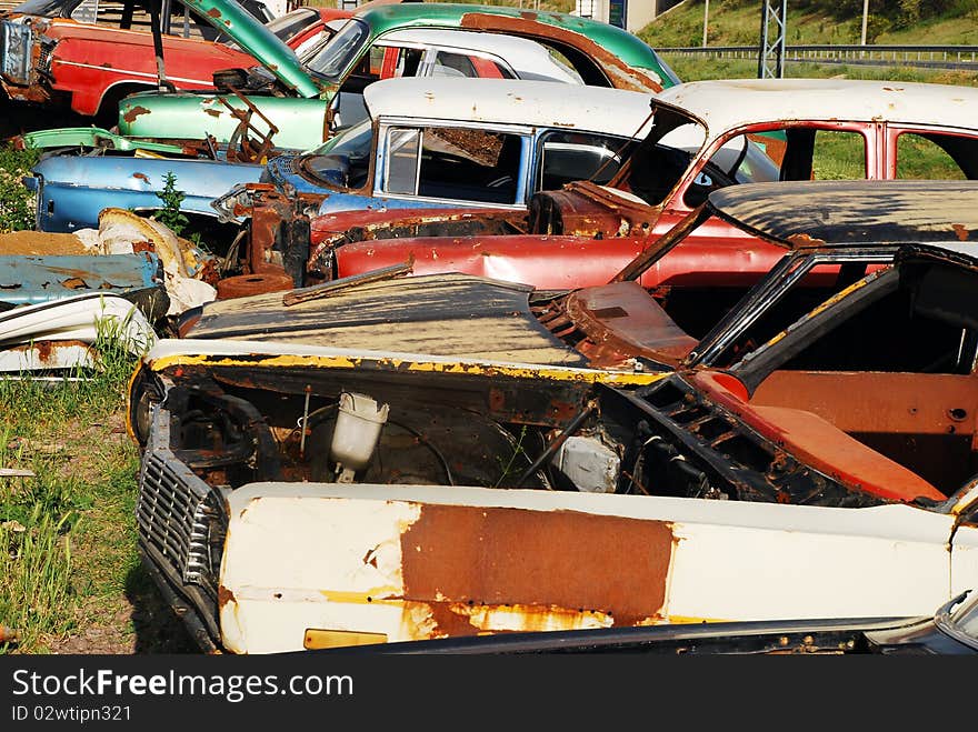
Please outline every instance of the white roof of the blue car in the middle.
[[370, 117], [558, 127], [641, 137], [650, 129], [645, 92], [515, 79], [400, 78], [363, 90]]

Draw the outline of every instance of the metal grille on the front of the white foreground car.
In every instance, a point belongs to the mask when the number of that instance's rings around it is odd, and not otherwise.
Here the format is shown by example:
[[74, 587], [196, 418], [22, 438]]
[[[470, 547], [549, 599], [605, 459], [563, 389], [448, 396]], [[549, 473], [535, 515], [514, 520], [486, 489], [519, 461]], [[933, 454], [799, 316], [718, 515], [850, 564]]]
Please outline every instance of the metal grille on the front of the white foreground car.
[[226, 515], [210, 487], [169, 449], [169, 413], [154, 412], [136, 507], [139, 535], [168, 564], [161, 569], [216, 601]]

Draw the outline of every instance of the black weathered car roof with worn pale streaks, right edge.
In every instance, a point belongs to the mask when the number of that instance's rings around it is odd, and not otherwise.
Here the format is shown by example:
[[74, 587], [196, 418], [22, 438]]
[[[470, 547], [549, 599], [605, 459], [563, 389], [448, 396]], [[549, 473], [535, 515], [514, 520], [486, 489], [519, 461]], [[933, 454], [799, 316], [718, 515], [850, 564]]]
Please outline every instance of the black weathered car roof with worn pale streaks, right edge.
[[978, 181], [745, 183], [713, 191], [707, 205], [791, 249], [927, 243], [978, 257]]

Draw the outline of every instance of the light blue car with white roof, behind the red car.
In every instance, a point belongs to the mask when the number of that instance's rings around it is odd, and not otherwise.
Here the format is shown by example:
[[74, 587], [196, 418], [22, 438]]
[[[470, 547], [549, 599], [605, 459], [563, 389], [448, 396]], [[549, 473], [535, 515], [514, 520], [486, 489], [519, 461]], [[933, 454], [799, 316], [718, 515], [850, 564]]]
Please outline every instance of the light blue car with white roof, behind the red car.
[[[648, 94], [638, 92], [501, 79], [391, 79], [371, 84], [366, 104], [370, 117], [320, 150], [271, 158], [271, 176], [289, 176], [289, 190], [302, 187], [306, 198], [341, 209], [491, 202], [525, 210], [555, 177], [587, 178], [603, 167], [610, 178], [649, 111]], [[213, 221], [216, 197], [265, 171], [186, 157], [59, 154], [37, 163], [26, 182], [38, 192], [38, 229], [74, 231], [97, 225], [103, 207], [159, 209], [168, 173], [183, 191], [184, 214]], [[278, 194], [265, 188], [266, 199]], [[256, 252], [249, 273], [263, 263]], [[301, 283], [302, 269], [295, 275]]]

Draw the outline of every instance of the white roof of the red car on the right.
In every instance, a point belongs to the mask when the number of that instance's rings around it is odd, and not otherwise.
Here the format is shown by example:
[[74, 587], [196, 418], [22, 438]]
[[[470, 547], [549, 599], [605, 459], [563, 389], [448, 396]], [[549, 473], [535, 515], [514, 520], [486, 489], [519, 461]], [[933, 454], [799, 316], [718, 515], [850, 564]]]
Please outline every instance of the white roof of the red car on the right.
[[857, 79], [691, 81], [658, 101], [702, 120], [711, 136], [778, 120], [900, 121], [974, 129], [978, 89]]

